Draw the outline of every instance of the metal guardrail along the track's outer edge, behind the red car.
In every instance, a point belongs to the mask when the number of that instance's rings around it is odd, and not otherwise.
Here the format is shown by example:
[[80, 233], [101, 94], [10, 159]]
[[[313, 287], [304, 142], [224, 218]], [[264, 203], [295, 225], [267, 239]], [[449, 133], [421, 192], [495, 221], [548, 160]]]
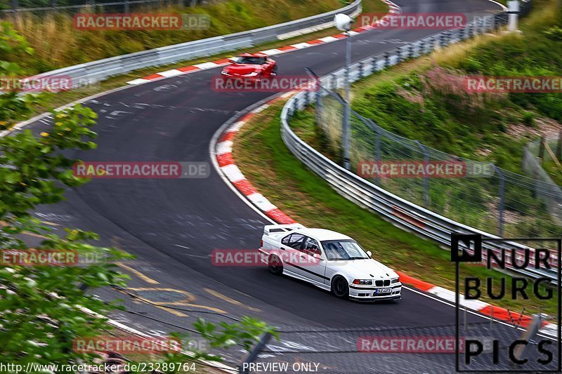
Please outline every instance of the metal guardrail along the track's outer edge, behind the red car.
[[352, 4], [344, 8], [312, 15], [311, 17], [301, 18], [290, 22], [281, 23], [253, 29], [245, 32], [237, 32], [223, 36], [214, 36], [208, 39], [188, 41], [187, 43], [175, 44], [155, 48], [150, 51], [130, 53], [104, 60], [87, 62], [81, 65], [64, 67], [51, 72], [37, 74], [37, 77], [65, 76], [72, 81], [72, 88], [93, 84], [110, 76], [126, 74], [133, 70], [145, 67], [155, 67], [169, 65], [174, 62], [201, 58], [217, 53], [234, 51], [241, 48], [249, 48], [257, 44], [279, 39], [279, 36], [292, 32], [299, 32], [311, 27], [322, 27], [330, 25], [334, 15], [345, 13], [350, 16], [358, 15], [361, 12], [361, 0], [355, 0]]

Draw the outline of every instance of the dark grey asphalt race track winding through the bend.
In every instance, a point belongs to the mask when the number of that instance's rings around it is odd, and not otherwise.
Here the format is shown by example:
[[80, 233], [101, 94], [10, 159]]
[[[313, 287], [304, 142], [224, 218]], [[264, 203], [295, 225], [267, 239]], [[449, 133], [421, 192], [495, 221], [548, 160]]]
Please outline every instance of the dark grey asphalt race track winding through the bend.
[[[487, 0], [399, 0], [396, 4], [403, 13], [466, 13], [469, 20], [499, 10]], [[358, 34], [352, 39], [353, 60], [435, 32], [397, 29]], [[324, 75], [343, 65], [344, 41], [277, 55], [275, 60], [280, 76], [305, 74], [305, 66]], [[242, 109], [271, 95], [212, 91], [211, 78], [219, 72], [209, 69], [175, 76], [91, 100], [87, 105], [99, 114], [93, 128], [99, 135], [98, 149], [71, 156], [85, 161], [210, 163], [209, 142], [217, 129]], [[45, 126], [48, 121], [28, 128], [41, 131]], [[92, 180], [69, 190], [66, 202], [44, 207], [38, 216], [97, 232], [102, 244], [138, 255], [128, 266], [152, 282], [130, 273], [131, 287], [150, 300], [174, 300], [182, 290], [188, 295], [186, 309], [216, 308], [231, 316], [255, 315], [280, 326], [437, 326], [455, 322], [454, 308], [410, 290], [403, 290], [398, 302], [360, 304], [338, 300], [300, 281], [272, 276], [263, 267], [211, 265], [209, 254], [214, 249], [258, 248], [263, 225], [268, 223], [211, 169], [206, 179]], [[380, 260], [384, 262], [384, 258]], [[110, 295], [112, 291], [107, 291]], [[128, 306], [183, 326], [198, 316], [189, 312], [180, 316], [132, 302]], [[482, 321], [473, 315], [469, 319]], [[138, 327], [153, 326], [140, 316], [122, 315], [122, 320]]]

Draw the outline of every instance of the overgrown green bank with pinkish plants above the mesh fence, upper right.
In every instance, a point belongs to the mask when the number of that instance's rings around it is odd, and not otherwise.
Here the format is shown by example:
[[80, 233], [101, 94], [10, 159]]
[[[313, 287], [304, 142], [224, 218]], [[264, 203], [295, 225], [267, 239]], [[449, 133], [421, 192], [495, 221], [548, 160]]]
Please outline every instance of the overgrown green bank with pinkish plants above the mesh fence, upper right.
[[443, 152], [521, 173], [523, 145], [558, 133], [562, 93], [467, 93], [465, 76], [561, 76], [562, 16], [535, 1], [521, 34], [482, 36], [371, 76], [353, 108], [388, 131]]

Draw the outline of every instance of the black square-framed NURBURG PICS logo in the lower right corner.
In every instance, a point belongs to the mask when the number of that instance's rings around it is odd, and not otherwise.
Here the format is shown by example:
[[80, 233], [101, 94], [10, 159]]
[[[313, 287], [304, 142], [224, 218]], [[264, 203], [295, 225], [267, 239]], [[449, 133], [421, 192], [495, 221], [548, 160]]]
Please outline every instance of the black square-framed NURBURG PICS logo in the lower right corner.
[[[481, 234], [451, 234], [451, 261], [456, 266], [457, 372], [560, 372], [561, 248], [562, 239], [488, 239]], [[485, 265], [485, 271], [460, 276], [460, 264], [463, 262], [478, 262]], [[511, 321], [511, 325], [516, 326], [497, 323], [497, 328], [490, 328], [490, 333], [494, 335], [491, 341], [463, 338], [459, 331], [459, 309], [470, 303], [485, 305], [481, 300], [483, 298], [492, 300], [491, 304], [496, 305], [514, 305], [516, 300], [532, 300], [528, 304], [534, 307], [540, 302], [556, 301], [557, 338], [540, 332], [542, 314], [535, 314], [530, 319], [524, 316], [524, 310], [523, 314], [514, 314], [518, 319]], [[492, 312], [485, 314], [490, 315], [491, 326], [493, 310], [501, 313], [506, 309], [495, 305], [489, 305], [489, 309]], [[509, 309], [507, 314], [511, 316]], [[464, 347], [459, 347], [461, 339]]]

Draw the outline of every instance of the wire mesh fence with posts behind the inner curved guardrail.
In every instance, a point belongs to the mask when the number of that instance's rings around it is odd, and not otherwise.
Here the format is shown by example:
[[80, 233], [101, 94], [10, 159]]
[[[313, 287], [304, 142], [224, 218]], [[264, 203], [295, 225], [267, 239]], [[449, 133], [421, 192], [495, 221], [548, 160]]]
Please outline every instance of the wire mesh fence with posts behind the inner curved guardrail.
[[[317, 100], [322, 100], [316, 105], [316, 118], [326, 145], [332, 153], [341, 154], [344, 101], [332, 91]], [[551, 181], [440, 152], [386, 131], [353, 110], [350, 161], [351, 171], [362, 178], [464, 225], [504, 237], [560, 235], [562, 192]], [[462, 167], [462, 173], [397, 173], [396, 177], [380, 173], [385, 165], [404, 168], [408, 163], [425, 167], [450, 163]]]

